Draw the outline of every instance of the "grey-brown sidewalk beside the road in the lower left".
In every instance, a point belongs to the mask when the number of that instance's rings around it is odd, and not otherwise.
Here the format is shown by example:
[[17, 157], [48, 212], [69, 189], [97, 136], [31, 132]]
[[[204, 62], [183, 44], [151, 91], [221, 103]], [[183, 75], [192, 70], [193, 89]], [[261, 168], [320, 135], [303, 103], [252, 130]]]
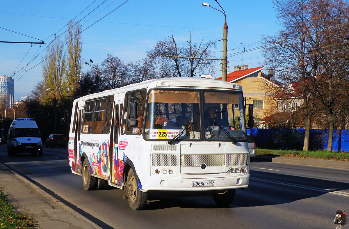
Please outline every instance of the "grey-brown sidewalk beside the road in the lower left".
[[0, 190], [18, 212], [37, 221], [36, 228], [100, 228], [2, 164]]

